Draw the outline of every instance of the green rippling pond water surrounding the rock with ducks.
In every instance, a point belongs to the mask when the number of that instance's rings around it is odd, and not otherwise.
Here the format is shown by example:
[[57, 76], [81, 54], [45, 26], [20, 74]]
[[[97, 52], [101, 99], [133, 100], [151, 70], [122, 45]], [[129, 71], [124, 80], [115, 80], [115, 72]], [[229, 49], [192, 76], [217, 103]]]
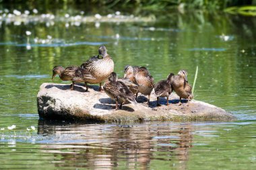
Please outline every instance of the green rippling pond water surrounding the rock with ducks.
[[[198, 12], [140, 23], [0, 23], [0, 169], [256, 169], [255, 17]], [[52, 82], [53, 67], [81, 65], [100, 44], [119, 77], [125, 65], [148, 67], [156, 82], [186, 69], [193, 84], [198, 66], [195, 99], [238, 120], [40, 120], [36, 94]]]

